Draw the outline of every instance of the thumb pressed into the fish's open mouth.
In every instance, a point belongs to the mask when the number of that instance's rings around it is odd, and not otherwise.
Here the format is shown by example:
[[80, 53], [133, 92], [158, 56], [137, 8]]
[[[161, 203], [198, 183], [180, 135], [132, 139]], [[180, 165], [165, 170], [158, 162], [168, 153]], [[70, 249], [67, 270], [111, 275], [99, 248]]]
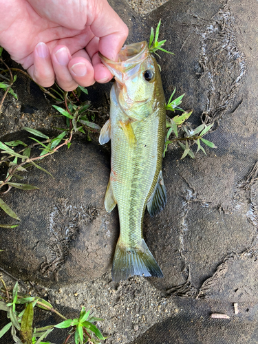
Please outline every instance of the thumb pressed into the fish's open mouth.
[[100, 38], [98, 48], [101, 54], [115, 61], [127, 39], [128, 28], [106, 0], [99, 1], [98, 6], [96, 16], [90, 24], [91, 30]]

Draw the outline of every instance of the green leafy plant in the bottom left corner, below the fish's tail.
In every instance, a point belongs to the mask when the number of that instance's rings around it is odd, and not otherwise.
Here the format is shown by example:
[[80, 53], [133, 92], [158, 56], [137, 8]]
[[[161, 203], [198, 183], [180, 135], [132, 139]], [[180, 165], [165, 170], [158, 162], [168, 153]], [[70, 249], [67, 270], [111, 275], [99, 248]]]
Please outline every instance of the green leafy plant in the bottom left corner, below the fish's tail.
[[[86, 342], [98, 344], [100, 341], [106, 339], [103, 334], [101, 334], [100, 330], [98, 330], [98, 327], [94, 325], [94, 322], [103, 321], [103, 319], [89, 316], [90, 311], [86, 312], [84, 307], [80, 311], [78, 319], [67, 319], [44, 299], [19, 293], [18, 282], [15, 284], [12, 292], [10, 292], [8, 288], [6, 288], [6, 283], [3, 279], [0, 278], [0, 281], [3, 284], [3, 288], [0, 288], [0, 310], [5, 311], [8, 319], [10, 319], [10, 323], [0, 329], [0, 338], [11, 330], [11, 335], [15, 343], [51, 344], [49, 341], [45, 342], [43, 340], [52, 330], [54, 330], [54, 328], [70, 327], [64, 341], [65, 344], [68, 343], [69, 339], [73, 336], [75, 344], [83, 344]], [[41, 310], [54, 312], [63, 319], [63, 321], [56, 325], [33, 329], [35, 306], [41, 308]], [[17, 335], [17, 331], [19, 331], [19, 335]]]

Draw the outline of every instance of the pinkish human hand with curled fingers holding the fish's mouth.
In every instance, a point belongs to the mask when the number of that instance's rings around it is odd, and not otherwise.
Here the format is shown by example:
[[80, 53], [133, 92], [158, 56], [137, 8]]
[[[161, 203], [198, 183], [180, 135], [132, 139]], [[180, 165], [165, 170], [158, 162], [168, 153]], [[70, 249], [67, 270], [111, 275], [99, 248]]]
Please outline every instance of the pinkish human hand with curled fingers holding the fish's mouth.
[[127, 25], [107, 0], [0, 0], [0, 45], [36, 83], [65, 91], [107, 83]]

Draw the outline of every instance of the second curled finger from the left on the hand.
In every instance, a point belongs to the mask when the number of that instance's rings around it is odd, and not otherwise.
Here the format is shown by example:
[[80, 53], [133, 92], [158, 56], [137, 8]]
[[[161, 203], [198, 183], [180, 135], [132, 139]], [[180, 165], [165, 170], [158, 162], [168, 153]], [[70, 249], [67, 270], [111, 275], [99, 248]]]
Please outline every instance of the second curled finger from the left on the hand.
[[56, 81], [65, 91], [72, 91], [78, 86], [68, 69], [68, 63], [71, 60], [72, 55], [65, 45], [57, 45], [52, 50], [52, 63]]

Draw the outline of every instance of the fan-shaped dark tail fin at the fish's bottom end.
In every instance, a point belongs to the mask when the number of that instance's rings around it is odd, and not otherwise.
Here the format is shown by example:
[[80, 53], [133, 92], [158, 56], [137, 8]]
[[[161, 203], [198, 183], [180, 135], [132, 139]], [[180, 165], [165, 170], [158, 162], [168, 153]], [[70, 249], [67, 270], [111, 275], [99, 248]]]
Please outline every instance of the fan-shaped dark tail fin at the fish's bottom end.
[[125, 248], [118, 240], [112, 266], [112, 279], [118, 282], [133, 275], [163, 277], [144, 239], [140, 245], [133, 248]]

